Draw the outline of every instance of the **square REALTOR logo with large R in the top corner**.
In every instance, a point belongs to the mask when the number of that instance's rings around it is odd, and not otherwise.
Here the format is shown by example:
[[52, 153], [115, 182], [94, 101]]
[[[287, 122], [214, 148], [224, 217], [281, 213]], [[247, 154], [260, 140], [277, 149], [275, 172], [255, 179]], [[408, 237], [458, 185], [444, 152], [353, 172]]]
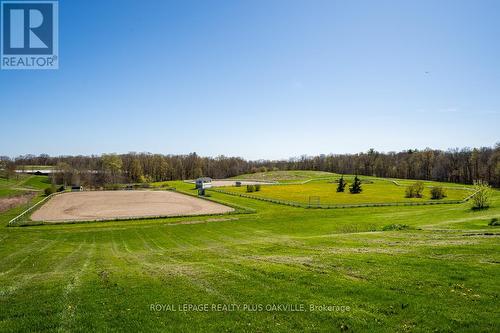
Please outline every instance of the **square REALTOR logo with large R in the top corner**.
[[2, 69], [58, 69], [58, 2], [0, 1]]

